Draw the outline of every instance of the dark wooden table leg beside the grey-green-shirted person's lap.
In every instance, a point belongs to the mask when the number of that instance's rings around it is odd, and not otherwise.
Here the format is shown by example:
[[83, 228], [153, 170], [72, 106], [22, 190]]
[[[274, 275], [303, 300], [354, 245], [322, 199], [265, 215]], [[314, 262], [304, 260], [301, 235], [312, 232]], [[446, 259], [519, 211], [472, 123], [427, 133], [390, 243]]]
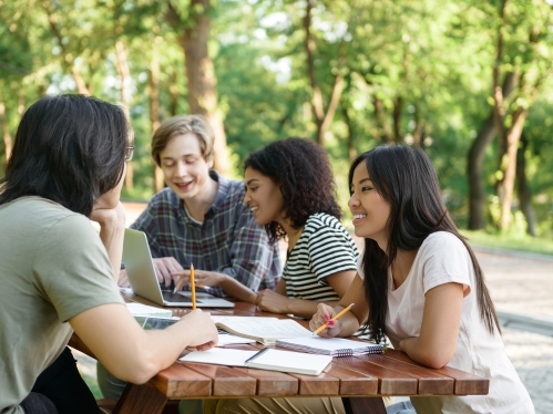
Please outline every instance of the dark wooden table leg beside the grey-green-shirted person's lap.
[[144, 385], [127, 383], [117, 401], [113, 414], [161, 414], [167, 397]]

